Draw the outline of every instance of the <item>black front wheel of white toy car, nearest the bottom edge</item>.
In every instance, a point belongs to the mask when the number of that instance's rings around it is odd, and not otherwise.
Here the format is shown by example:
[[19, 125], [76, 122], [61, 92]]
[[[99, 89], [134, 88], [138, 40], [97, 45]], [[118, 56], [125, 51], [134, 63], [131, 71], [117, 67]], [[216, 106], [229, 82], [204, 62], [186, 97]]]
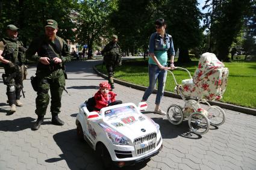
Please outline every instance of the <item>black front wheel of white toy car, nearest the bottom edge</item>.
[[110, 153], [108, 153], [108, 150], [104, 144], [97, 145], [96, 155], [101, 158], [105, 169], [111, 169], [113, 167], [113, 161], [111, 159]]

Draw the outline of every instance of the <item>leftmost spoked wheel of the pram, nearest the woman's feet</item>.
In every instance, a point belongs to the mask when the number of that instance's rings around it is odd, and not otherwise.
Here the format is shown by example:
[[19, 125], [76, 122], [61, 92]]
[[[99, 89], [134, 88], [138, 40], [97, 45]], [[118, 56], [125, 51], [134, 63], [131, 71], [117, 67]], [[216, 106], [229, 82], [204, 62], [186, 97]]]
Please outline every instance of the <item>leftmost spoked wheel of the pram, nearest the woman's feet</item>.
[[183, 121], [183, 109], [178, 105], [170, 105], [166, 114], [172, 124], [180, 124]]

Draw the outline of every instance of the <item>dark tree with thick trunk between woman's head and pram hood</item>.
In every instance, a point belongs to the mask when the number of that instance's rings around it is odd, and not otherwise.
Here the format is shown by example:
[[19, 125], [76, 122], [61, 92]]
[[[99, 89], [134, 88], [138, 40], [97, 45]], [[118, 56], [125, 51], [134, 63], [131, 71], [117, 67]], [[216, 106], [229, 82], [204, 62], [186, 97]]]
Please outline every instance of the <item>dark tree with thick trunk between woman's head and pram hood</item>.
[[171, 0], [166, 1], [161, 10], [170, 28], [168, 32], [173, 37], [174, 46], [180, 50], [178, 62], [189, 62], [189, 49], [199, 46], [202, 41], [199, 25], [201, 13], [196, 5], [196, 0]]

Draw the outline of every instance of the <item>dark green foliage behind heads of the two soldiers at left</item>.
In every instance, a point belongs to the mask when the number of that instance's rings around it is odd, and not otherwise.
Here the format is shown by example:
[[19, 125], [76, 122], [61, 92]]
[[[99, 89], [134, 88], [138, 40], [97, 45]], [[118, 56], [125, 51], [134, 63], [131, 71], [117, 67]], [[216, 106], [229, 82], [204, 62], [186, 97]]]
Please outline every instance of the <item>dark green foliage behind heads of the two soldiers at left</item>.
[[[71, 28], [74, 24], [70, 20], [70, 11], [75, 8], [78, 0], [16, 0], [2, 3], [0, 11], [0, 32], [5, 34], [5, 26], [14, 24], [20, 28], [20, 37], [24, 44], [38, 34], [43, 33], [46, 19], [58, 22], [58, 35], [64, 39], [73, 39], [75, 34]], [[1, 7], [1, 3], [0, 3]]]

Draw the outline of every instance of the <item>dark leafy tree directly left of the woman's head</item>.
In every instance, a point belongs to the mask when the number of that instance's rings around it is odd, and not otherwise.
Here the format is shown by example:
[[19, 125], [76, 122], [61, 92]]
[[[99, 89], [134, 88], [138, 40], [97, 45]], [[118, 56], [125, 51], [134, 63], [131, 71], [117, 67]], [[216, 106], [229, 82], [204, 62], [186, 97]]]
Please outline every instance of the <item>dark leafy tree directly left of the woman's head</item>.
[[119, 35], [123, 51], [134, 53], [142, 47], [146, 52], [149, 36], [155, 31], [154, 14], [162, 2], [157, 0], [118, 1], [118, 8], [111, 14], [110, 20], [111, 26]]

